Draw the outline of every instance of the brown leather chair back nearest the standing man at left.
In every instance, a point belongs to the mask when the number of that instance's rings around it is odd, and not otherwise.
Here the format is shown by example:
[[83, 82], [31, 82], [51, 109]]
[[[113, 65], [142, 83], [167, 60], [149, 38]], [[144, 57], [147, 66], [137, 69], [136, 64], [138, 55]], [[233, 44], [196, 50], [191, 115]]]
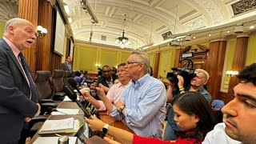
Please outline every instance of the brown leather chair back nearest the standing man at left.
[[53, 97], [53, 91], [50, 87], [50, 71], [38, 70], [34, 78], [34, 84], [38, 90], [38, 100], [40, 99], [51, 99]]

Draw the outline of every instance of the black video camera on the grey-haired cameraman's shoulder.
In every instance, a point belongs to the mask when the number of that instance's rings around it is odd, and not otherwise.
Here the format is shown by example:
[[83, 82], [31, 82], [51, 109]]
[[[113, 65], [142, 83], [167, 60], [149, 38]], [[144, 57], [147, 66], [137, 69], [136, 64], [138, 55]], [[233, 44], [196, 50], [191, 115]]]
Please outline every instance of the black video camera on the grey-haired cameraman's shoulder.
[[176, 73], [170, 72], [167, 73], [166, 76], [170, 82], [175, 83], [176, 87], [178, 87], [177, 74], [184, 78], [184, 86], [190, 85], [190, 80], [196, 76], [196, 74], [194, 74], [194, 62], [190, 58], [182, 58], [182, 60], [179, 62], [182, 63], [183, 61], [186, 61], [186, 63], [184, 66], [182, 66], [182, 68], [173, 67], [171, 70], [175, 71]]

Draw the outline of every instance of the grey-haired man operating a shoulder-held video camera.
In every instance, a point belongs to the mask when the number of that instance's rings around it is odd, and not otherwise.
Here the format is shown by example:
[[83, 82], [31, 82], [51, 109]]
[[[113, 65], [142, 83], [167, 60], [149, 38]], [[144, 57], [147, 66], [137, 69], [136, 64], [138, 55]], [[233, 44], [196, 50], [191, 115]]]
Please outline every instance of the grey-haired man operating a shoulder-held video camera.
[[[181, 75], [177, 75], [178, 78], [178, 88], [174, 88], [175, 83], [169, 82], [169, 87], [166, 92], [167, 102], [171, 102], [175, 95], [184, 93], [185, 91], [198, 91], [202, 94], [208, 102], [211, 100], [210, 94], [204, 88], [204, 85], [208, 82], [209, 74], [206, 70], [197, 69], [194, 70], [196, 76], [190, 80], [190, 85], [184, 86], [184, 79]], [[166, 130], [164, 134], [164, 141], [173, 141], [178, 137], [176, 133], [179, 131], [176, 122], [174, 122], [174, 110], [171, 108], [170, 113], [168, 114], [168, 122], [166, 125]]]

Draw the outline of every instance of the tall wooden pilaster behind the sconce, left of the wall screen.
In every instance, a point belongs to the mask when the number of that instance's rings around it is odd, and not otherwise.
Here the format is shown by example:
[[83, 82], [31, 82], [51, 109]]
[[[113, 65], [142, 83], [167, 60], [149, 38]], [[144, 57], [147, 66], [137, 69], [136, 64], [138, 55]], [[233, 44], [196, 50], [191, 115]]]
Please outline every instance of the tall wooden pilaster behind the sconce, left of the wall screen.
[[36, 70], [51, 70], [52, 35], [53, 35], [53, 8], [46, 0], [39, 1], [38, 25], [45, 27], [48, 31], [45, 37], [38, 38], [36, 51]]

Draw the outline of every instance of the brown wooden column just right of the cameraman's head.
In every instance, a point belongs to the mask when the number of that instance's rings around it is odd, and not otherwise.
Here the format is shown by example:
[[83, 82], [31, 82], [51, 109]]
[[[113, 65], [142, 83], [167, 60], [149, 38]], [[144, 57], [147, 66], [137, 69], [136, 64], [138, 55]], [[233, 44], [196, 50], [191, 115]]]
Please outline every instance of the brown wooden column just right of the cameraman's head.
[[210, 42], [208, 58], [206, 60], [205, 68], [203, 69], [210, 74], [206, 86], [212, 99], [217, 99], [220, 91], [225, 53], [226, 41]]

